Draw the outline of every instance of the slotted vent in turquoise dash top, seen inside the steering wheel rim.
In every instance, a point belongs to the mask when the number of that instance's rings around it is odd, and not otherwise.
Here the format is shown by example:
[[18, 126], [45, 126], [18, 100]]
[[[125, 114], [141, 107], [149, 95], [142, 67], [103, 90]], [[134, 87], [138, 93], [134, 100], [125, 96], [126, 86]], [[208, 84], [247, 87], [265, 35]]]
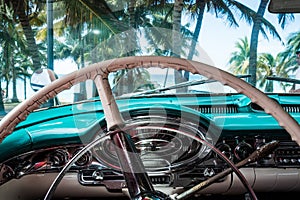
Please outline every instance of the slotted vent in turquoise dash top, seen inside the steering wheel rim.
[[193, 106], [191, 107], [201, 113], [210, 114], [223, 114], [223, 113], [237, 113], [238, 109], [235, 105], [217, 105], [217, 106]]

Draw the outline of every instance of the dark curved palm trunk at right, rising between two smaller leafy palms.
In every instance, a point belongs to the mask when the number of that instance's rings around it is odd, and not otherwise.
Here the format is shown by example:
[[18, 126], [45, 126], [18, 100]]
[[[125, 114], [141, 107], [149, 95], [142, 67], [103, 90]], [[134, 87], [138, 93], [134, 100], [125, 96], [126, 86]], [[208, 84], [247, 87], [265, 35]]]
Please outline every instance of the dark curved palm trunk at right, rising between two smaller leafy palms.
[[259, 30], [261, 28], [261, 22], [262, 22], [264, 14], [265, 14], [268, 2], [269, 2], [269, 0], [261, 0], [260, 5], [257, 10], [257, 15], [253, 22], [253, 27], [252, 27], [252, 32], [251, 32], [249, 74], [251, 74], [250, 84], [252, 84], [253, 86], [256, 85], [258, 35], [259, 35]]

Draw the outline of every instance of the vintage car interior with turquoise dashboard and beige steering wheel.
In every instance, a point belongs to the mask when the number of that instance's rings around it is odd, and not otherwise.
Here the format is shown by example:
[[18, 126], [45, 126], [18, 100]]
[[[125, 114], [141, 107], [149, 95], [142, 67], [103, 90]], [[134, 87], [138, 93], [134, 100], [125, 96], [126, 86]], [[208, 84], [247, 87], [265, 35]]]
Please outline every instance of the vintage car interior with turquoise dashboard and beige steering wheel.
[[[176, 83], [183, 71], [189, 81]], [[1, 120], [1, 199], [294, 195], [300, 192], [299, 93], [264, 93], [249, 77], [149, 55], [64, 75]]]

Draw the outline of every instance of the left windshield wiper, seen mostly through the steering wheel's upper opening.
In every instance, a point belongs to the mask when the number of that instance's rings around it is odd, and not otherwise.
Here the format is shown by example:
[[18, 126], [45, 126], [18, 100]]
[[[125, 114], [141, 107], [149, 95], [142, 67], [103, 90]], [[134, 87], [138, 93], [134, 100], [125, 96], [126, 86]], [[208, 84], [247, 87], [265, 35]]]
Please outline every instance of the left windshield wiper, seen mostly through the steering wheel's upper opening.
[[[251, 77], [250, 74], [246, 74], [246, 75], [236, 75], [237, 78], [249, 78]], [[205, 84], [205, 83], [213, 83], [213, 82], [217, 82], [216, 80], [213, 79], [206, 79], [206, 80], [193, 80], [193, 81], [187, 81], [187, 82], [182, 82], [182, 83], [178, 83], [172, 86], [168, 86], [168, 87], [164, 87], [164, 88], [157, 88], [157, 89], [153, 89], [153, 90], [147, 90], [144, 92], [140, 92], [135, 94], [134, 96], [139, 96], [139, 95], [144, 95], [144, 94], [153, 94], [153, 93], [160, 93], [163, 91], [167, 91], [167, 90], [173, 90], [173, 89], [178, 89], [178, 88], [182, 88], [182, 87], [189, 87], [189, 86], [194, 86], [194, 85], [201, 85], [201, 84]]]

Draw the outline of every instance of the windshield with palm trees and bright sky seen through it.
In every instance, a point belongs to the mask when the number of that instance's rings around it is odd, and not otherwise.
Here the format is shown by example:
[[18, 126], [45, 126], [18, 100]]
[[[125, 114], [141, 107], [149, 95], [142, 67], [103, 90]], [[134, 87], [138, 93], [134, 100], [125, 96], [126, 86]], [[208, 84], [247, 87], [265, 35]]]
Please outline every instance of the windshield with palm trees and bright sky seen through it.
[[[39, 68], [60, 78], [92, 63], [140, 55], [199, 61], [268, 93], [296, 91], [299, 14], [273, 14], [260, 1], [221, 2], [3, 1], [2, 104], [32, 96], [30, 80]], [[159, 67], [118, 71], [109, 80], [115, 96], [236, 93], [202, 75]], [[93, 96], [74, 86], [58, 98]]]

